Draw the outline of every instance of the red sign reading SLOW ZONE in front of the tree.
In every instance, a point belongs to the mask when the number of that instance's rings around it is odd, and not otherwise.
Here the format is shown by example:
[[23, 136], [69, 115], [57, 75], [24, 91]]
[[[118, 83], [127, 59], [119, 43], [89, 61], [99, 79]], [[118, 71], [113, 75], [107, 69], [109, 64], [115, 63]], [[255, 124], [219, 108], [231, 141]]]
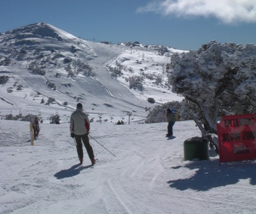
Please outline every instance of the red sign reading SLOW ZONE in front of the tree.
[[255, 114], [224, 116], [217, 132], [220, 162], [256, 159]]

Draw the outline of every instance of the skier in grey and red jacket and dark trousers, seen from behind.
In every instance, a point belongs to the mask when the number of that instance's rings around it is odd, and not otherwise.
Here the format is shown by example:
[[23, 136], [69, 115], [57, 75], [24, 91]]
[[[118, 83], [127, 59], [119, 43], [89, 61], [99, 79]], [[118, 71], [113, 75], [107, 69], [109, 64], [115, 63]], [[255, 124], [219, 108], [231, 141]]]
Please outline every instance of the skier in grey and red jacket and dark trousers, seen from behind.
[[90, 131], [90, 121], [87, 115], [83, 112], [82, 103], [77, 103], [76, 111], [71, 114], [70, 117], [70, 136], [75, 137], [76, 140], [76, 149], [77, 155], [80, 161], [80, 164], [83, 163], [83, 144], [86, 148], [87, 154], [91, 159], [92, 165], [95, 164], [93, 149], [89, 142], [89, 131]]

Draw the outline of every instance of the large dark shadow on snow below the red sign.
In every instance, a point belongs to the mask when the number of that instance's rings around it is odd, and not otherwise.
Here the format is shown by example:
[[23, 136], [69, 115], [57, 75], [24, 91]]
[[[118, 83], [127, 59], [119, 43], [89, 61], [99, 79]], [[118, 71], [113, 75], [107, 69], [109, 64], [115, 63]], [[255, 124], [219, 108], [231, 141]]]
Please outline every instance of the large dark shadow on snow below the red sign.
[[181, 167], [198, 170], [192, 177], [168, 181], [167, 183], [172, 188], [206, 191], [215, 187], [236, 184], [241, 179], [250, 179], [250, 184], [256, 185], [255, 162], [227, 162], [220, 165], [218, 160], [200, 161], [189, 162], [185, 166], [175, 166], [172, 169], [178, 170]]

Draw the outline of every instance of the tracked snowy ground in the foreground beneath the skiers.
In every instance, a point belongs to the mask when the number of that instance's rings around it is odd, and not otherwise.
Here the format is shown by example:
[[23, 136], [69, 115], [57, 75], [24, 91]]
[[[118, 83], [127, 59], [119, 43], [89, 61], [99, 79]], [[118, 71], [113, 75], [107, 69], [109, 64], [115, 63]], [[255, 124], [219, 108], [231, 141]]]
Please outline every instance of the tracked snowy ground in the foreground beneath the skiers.
[[[1, 214], [256, 213], [255, 164], [184, 161], [182, 143], [200, 135], [193, 121], [91, 124], [96, 165], [84, 149], [78, 165], [69, 124], [41, 124], [34, 146], [29, 123], [0, 120]], [[11, 127], [11, 128], [10, 128]]]

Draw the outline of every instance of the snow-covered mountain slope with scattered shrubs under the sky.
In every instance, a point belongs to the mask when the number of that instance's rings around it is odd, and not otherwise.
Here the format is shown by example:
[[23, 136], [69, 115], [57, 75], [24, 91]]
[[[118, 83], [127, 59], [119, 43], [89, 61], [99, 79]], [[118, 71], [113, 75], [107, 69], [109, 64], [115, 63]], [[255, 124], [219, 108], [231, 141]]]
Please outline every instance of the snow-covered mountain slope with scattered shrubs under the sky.
[[147, 116], [171, 93], [165, 65], [174, 52], [162, 45], [111, 44], [79, 39], [38, 23], [0, 34], [0, 115], [69, 115], [81, 102], [93, 117]]

